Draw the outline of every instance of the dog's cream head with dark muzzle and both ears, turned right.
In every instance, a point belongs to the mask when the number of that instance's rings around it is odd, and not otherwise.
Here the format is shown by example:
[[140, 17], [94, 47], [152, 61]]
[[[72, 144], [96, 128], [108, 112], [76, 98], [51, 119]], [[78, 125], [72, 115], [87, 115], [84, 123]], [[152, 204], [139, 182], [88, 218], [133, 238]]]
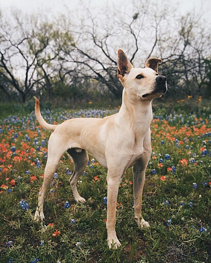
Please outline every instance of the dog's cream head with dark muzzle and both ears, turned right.
[[117, 77], [132, 101], [153, 100], [166, 92], [166, 78], [158, 74], [158, 58], [149, 58], [144, 68], [134, 68], [122, 50], [118, 50]]

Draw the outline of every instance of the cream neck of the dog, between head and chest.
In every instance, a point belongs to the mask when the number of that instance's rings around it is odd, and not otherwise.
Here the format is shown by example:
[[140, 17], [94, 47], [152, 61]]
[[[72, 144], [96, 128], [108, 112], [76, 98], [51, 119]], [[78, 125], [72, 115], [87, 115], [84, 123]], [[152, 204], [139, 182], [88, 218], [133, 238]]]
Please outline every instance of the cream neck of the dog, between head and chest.
[[145, 133], [152, 122], [152, 101], [132, 102], [125, 89], [122, 93], [122, 104], [118, 113], [119, 122], [124, 126], [132, 126], [135, 133]]

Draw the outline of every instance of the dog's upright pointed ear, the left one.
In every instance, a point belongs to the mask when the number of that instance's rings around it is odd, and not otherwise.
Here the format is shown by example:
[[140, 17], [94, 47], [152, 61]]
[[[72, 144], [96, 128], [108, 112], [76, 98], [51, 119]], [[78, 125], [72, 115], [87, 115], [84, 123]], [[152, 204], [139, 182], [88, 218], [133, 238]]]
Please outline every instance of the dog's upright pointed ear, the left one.
[[122, 78], [128, 74], [133, 65], [122, 50], [118, 50], [117, 77]]

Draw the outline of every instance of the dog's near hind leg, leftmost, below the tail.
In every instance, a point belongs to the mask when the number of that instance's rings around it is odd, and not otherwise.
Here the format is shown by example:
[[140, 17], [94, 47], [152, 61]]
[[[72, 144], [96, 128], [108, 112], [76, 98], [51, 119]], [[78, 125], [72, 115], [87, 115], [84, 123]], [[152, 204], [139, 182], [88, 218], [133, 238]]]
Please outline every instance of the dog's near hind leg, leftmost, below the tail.
[[34, 214], [34, 221], [38, 221], [39, 218], [43, 221], [45, 219], [43, 206], [44, 199], [46, 195], [46, 190], [51, 183], [53, 175], [58, 167], [59, 160], [67, 149], [62, 147], [62, 142], [57, 139], [53, 133], [49, 138], [49, 146], [48, 146], [48, 160], [44, 172], [44, 182], [41, 188], [39, 189], [38, 194], [38, 206], [36, 208], [36, 212]]

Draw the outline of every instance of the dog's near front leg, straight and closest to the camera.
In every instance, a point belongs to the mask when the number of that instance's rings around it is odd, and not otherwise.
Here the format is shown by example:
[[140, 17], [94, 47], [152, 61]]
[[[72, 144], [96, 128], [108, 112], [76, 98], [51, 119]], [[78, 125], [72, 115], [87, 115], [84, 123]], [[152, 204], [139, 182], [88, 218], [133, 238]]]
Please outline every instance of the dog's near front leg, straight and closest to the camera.
[[[123, 173], [122, 173], [123, 174]], [[122, 174], [110, 173], [108, 170], [107, 183], [108, 183], [108, 203], [107, 203], [107, 233], [108, 233], [108, 246], [109, 248], [116, 249], [121, 246], [116, 236], [116, 203], [119, 190], [119, 184], [122, 178]]]

